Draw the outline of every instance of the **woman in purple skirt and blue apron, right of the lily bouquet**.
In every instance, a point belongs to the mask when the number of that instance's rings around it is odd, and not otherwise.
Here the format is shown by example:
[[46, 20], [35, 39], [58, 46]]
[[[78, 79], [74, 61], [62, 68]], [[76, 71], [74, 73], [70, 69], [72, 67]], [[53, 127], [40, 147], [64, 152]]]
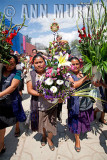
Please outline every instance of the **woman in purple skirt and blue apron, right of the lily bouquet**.
[[[88, 76], [83, 76], [80, 71], [80, 61], [77, 57], [72, 57], [70, 62], [74, 66], [73, 75], [69, 76], [71, 86], [75, 89], [87, 87]], [[90, 122], [94, 120], [93, 104], [90, 98], [72, 96], [68, 99], [68, 126], [69, 130], [75, 134], [75, 150], [80, 152], [80, 133], [90, 131]]]

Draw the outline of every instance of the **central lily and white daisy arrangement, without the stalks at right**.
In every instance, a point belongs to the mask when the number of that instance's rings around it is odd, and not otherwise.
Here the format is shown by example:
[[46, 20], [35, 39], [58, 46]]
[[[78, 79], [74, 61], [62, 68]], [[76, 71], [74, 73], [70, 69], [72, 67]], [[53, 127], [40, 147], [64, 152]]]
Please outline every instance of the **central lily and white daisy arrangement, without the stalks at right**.
[[47, 60], [46, 74], [43, 76], [42, 82], [38, 81], [36, 89], [38, 92], [43, 93], [44, 97], [51, 103], [58, 101], [58, 98], [65, 99], [68, 97], [68, 93], [73, 90], [70, 87], [68, 80], [68, 71], [71, 66], [71, 62], [68, 61], [68, 53], [55, 54], [55, 48], [51, 45], [51, 57]]

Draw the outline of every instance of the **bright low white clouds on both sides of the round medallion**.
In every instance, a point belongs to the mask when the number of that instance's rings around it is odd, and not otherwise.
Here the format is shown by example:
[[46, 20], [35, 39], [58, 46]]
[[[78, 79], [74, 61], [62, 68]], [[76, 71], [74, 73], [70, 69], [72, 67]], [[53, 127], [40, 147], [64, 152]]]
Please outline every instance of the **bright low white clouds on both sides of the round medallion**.
[[[62, 36], [63, 40], [67, 40], [69, 43], [75, 39], [78, 39], [78, 32], [72, 31], [69, 33], [66, 32], [59, 32], [59, 34]], [[31, 43], [42, 43], [44, 46], [49, 47], [49, 42], [52, 42], [54, 40], [54, 36], [52, 34], [47, 35], [40, 35], [38, 38], [32, 38]]]

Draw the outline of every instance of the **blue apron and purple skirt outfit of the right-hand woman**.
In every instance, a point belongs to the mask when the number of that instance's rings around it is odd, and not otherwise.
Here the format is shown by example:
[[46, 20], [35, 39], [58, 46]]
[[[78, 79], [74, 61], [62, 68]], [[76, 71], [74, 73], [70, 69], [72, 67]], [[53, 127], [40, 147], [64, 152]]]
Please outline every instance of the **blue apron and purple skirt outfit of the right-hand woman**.
[[[72, 78], [74, 81], [79, 80], [76, 75], [72, 75]], [[86, 83], [82, 85], [82, 89], [88, 87]], [[67, 107], [69, 130], [74, 134], [90, 131], [90, 123], [94, 120], [92, 100], [88, 97], [72, 96], [68, 99]]]

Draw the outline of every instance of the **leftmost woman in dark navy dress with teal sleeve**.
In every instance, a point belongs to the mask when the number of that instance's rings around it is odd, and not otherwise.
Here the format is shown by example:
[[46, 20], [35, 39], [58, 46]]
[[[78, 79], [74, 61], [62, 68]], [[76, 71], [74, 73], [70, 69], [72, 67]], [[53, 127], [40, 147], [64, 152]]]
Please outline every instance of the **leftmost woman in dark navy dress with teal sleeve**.
[[16, 70], [18, 59], [9, 55], [7, 60], [9, 64], [3, 67], [0, 81], [0, 154], [5, 152], [5, 128], [26, 120], [18, 91], [21, 80], [21, 72]]

